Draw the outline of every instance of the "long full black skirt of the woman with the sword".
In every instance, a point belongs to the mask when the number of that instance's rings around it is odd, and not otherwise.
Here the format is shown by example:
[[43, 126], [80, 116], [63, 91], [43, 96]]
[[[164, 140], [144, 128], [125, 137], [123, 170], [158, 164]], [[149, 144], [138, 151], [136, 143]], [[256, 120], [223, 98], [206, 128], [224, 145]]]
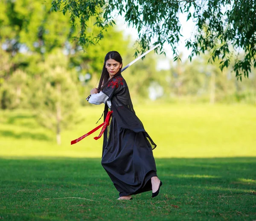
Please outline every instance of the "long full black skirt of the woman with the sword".
[[119, 191], [119, 196], [152, 190], [151, 177], [157, 176], [152, 146], [145, 132], [119, 127], [113, 115], [102, 166]]

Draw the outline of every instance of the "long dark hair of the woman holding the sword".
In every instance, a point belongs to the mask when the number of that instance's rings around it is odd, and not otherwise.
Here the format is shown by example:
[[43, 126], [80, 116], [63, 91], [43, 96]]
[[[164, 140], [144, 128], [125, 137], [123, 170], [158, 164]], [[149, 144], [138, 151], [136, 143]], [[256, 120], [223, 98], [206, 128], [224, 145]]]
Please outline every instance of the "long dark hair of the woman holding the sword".
[[[104, 59], [104, 65], [103, 65], [102, 73], [99, 79], [98, 92], [100, 92], [108, 83], [109, 74], [108, 74], [108, 70], [105, 67], [106, 61], [108, 59], [116, 60], [117, 62], [122, 64], [122, 57], [118, 52], [116, 51], [108, 52], [108, 54], [105, 56], [105, 59]], [[119, 76], [121, 74], [121, 69], [122, 68], [120, 68], [119, 71], [113, 77]]]

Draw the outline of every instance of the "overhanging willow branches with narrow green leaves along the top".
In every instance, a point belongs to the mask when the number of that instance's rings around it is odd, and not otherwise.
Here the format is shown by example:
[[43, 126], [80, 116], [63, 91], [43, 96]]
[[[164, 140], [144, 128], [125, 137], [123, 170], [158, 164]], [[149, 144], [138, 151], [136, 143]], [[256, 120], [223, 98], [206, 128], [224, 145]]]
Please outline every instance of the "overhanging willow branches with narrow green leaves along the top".
[[[233, 70], [236, 77], [248, 77], [251, 68], [256, 67], [256, 2], [253, 0], [53, 0], [52, 11], [70, 12], [73, 26], [80, 24], [76, 40], [81, 45], [97, 43], [104, 30], [113, 26], [113, 15], [125, 17], [129, 26], [135, 26], [140, 47], [135, 55], [147, 50], [150, 45], [164, 43], [172, 46], [174, 60], [179, 59], [177, 44], [180, 40], [179, 14], [195, 22], [195, 33], [186, 40], [186, 47], [192, 49], [190, 60], [195, 55], [210, 52], [211, 60], [220, 59], [220, 69], [230, 65], [235, 51], [244, 52], [237, 57]], [[117, 11], [117, 13], [113, 13]], [[99, 34], [88, 36], [86, 22], [96, 18]]]

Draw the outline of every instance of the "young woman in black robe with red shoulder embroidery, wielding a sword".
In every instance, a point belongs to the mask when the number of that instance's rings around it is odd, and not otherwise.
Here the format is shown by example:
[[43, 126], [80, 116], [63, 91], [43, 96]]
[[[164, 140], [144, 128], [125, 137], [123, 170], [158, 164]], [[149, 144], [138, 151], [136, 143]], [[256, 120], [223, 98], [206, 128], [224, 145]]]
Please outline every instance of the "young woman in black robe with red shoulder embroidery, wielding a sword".
[[134, 112], [121, 69], [121, 55], [108, 52], [99, 87], [90, 91], [88, 100], [97, 105], [105, 103], [104, 119], [112, 113], [110, 125], [104, 131], [102, 166], [119, 191], [118, 199], [130, 200], [131, 195], [150, 190], [155, 197], [162, 185], [152, 152], [157, 145]]

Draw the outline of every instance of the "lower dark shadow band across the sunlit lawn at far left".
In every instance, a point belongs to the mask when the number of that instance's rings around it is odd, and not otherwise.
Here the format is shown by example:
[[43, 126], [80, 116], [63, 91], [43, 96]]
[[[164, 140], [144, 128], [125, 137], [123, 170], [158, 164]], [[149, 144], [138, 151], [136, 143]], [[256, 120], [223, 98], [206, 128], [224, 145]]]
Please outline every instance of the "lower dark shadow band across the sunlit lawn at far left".
[[52, 140], [44, 133], [30, 133], [30, 132], [15, 133], [12, 130], [0, 130], [0, 137], [1, 136], [2, 137], [12, 137], [15, 139], [29, 138], [29, 139], [40, 140], [40, 141]]

